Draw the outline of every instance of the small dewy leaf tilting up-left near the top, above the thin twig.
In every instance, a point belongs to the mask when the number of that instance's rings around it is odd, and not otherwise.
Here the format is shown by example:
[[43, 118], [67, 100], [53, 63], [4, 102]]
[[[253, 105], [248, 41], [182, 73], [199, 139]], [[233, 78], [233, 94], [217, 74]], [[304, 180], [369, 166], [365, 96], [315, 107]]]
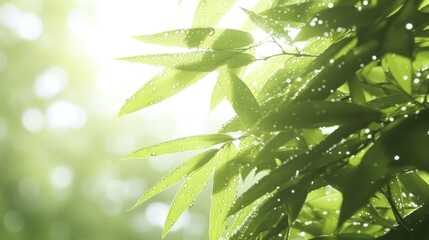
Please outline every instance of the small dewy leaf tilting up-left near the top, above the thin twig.
[[289, 34], [285, 31], [283, 25], [279, 24], [275, 20], [264, 18], [252, 11], [241, 8], [247, 15], [249, 15], [250, 20], [259, 28], [267, 32], [268, 34], [275, 36], [281, 39], [283, 42], [291, 43], [292, 39]]

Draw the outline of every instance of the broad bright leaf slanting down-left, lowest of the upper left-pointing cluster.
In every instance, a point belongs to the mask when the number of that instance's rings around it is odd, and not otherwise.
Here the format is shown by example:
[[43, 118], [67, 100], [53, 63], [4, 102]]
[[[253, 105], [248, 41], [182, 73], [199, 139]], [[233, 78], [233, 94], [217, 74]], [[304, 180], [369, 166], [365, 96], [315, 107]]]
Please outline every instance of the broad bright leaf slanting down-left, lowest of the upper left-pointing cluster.
[[129, 98], [119, 111], [119, 116], [135, 112], [161, 102], [196, 83], [207, 73], [165, 69], [149, 80]]

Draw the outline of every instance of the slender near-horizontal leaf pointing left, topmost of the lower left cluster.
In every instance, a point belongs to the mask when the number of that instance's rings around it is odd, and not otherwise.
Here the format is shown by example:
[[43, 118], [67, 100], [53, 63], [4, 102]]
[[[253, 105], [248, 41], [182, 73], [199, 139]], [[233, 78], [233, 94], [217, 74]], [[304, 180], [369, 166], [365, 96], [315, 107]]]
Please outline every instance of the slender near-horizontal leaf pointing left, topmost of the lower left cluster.
[[231, 140], [233, 140], [231, 136], [221, 133], [179, 138], [139, 149], [126, 157], [126, 159], [148, 158], [163, 154], [196, 150]]

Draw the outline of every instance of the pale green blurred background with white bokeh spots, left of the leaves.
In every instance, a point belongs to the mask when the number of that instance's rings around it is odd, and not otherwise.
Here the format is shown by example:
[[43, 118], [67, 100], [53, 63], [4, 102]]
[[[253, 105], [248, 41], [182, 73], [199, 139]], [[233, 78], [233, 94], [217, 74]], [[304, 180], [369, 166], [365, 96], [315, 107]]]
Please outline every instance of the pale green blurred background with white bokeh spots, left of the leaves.
[[[177, 188], [126, 210], [189, 154], [112, 161], [156, 142], [215, 132], [228, 114], [209, 115], [211, 83], [203, 81], [117, 119], [125, 99], [159, 69], [114, 59], [156, 51], [130, 36], [189, 26], [192, 7], [0, 1], [0, 239], [161, 238]], [[166, 239], [208, 238], [209, 191]]]

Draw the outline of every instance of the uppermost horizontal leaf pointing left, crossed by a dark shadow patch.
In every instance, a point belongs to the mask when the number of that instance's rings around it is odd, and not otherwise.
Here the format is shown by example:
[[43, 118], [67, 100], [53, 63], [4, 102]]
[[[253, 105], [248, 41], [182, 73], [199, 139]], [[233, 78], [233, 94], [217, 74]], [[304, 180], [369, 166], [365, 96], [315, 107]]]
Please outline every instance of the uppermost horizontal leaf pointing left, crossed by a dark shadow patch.
[[253, 36], [248, 32], [216, 28], [178, 29], [135, 38], [146, 43], [163, 46], [215, 50], [243, 48], [253, 43]]

